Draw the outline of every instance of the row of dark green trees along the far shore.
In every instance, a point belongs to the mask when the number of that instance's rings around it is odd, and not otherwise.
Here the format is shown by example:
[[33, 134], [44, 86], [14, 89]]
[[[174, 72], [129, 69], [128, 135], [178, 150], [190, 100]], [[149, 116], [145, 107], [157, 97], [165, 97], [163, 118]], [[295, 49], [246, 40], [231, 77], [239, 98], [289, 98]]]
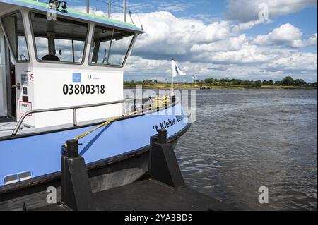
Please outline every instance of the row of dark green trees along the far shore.
[[[158, 82], [157, 80], [143, 80], [143, 81], [125, 81], [125, 85], [159, 85], [166, 84], [167, 82]], [[242, 86], [245, 88], [260, 88], [261, 86], [298, 86], [298, 87], [317, 87], [317, 82], [307, 83], [302, 79], [293, 79], [291, 76], [283, 78], [283, 80], [241, 80], [241, 79], [216, 79], [206, 78], [204, 80], [195, 80], [193, 83], [179, 82], [180, 85], [193, 85], [199, 86]]]

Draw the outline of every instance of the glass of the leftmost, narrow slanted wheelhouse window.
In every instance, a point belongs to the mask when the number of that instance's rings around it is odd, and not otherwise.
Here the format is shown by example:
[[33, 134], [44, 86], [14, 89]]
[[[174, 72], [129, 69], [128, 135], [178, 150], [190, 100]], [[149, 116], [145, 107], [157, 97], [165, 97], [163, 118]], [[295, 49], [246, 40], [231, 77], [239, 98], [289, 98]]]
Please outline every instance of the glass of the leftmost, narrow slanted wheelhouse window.
[[16, 61], [29, 61], [30, 56], [21, 13], [13, 13], [10, 16], [3, 17], [1, 20]]

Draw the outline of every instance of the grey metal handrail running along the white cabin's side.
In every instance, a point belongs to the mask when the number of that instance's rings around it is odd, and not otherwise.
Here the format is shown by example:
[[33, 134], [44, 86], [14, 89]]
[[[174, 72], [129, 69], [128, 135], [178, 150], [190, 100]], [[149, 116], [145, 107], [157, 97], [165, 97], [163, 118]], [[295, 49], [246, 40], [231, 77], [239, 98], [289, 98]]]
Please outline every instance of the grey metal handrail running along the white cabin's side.
[[[30, 114], [38, 114], [38, 113], [45, 113], [45, 112], [52, 112], [52, 111], [65, 111], [65, 110], [72, 110], [73, 109], [73, 126], [77, 126], [77, 109], [84, 109], [84, 108], [91, 108], [91, 107], [102, 107], [107, 106], [110, 104], [122, 104], [122, 109], [124, 109], [124, 102], [125, 100], [119, 100], [114, 102], [104, 102], [104, 103], [98, 103], [98, 104], [85, 104], [75, 107], [59, 107], [59, 108], [51, 108], [51, 109], [35, 109], [27, 111], [23, 116], [20, 118], [18, 123], [16, 124], [16, 128], [14, 128], [12, 136], [17, 135], [18, 130], [20, 129], [20, 126], [22, 125], [25, 118]], [[123, 112], [122, 112], [123, 113]]]

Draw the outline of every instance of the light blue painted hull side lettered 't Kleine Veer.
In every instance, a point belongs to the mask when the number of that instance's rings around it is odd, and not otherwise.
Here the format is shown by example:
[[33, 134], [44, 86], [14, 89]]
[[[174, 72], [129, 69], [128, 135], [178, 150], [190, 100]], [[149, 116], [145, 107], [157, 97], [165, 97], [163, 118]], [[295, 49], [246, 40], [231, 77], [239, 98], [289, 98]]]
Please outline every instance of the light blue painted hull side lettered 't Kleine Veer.
[[[148, 146], [156, 129], [165, 128], [170, 138], [186, 128], [188, 118], [180, 103], [163, 111], [115, 121], [90, 133], [80, 140], [80, 154], [86, 164], [91, 164]], [[32, 178], [37, 178], [59, 172], [61, 146], [92, 128], [95, 126], [0, 140], [0, 187], [6, 177], [14, 174], [30, 172]]]

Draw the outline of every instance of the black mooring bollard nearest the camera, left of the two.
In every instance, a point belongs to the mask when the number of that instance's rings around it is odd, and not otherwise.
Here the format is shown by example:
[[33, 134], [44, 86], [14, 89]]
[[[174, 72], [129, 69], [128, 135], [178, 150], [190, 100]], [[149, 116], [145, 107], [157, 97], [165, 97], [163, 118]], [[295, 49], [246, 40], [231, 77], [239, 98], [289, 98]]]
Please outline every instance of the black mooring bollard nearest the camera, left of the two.
[[78, 154], [78, 140], [66, 143], [61, 156], [61, 202], [76, 211], [96, 210], [85, 160]]

